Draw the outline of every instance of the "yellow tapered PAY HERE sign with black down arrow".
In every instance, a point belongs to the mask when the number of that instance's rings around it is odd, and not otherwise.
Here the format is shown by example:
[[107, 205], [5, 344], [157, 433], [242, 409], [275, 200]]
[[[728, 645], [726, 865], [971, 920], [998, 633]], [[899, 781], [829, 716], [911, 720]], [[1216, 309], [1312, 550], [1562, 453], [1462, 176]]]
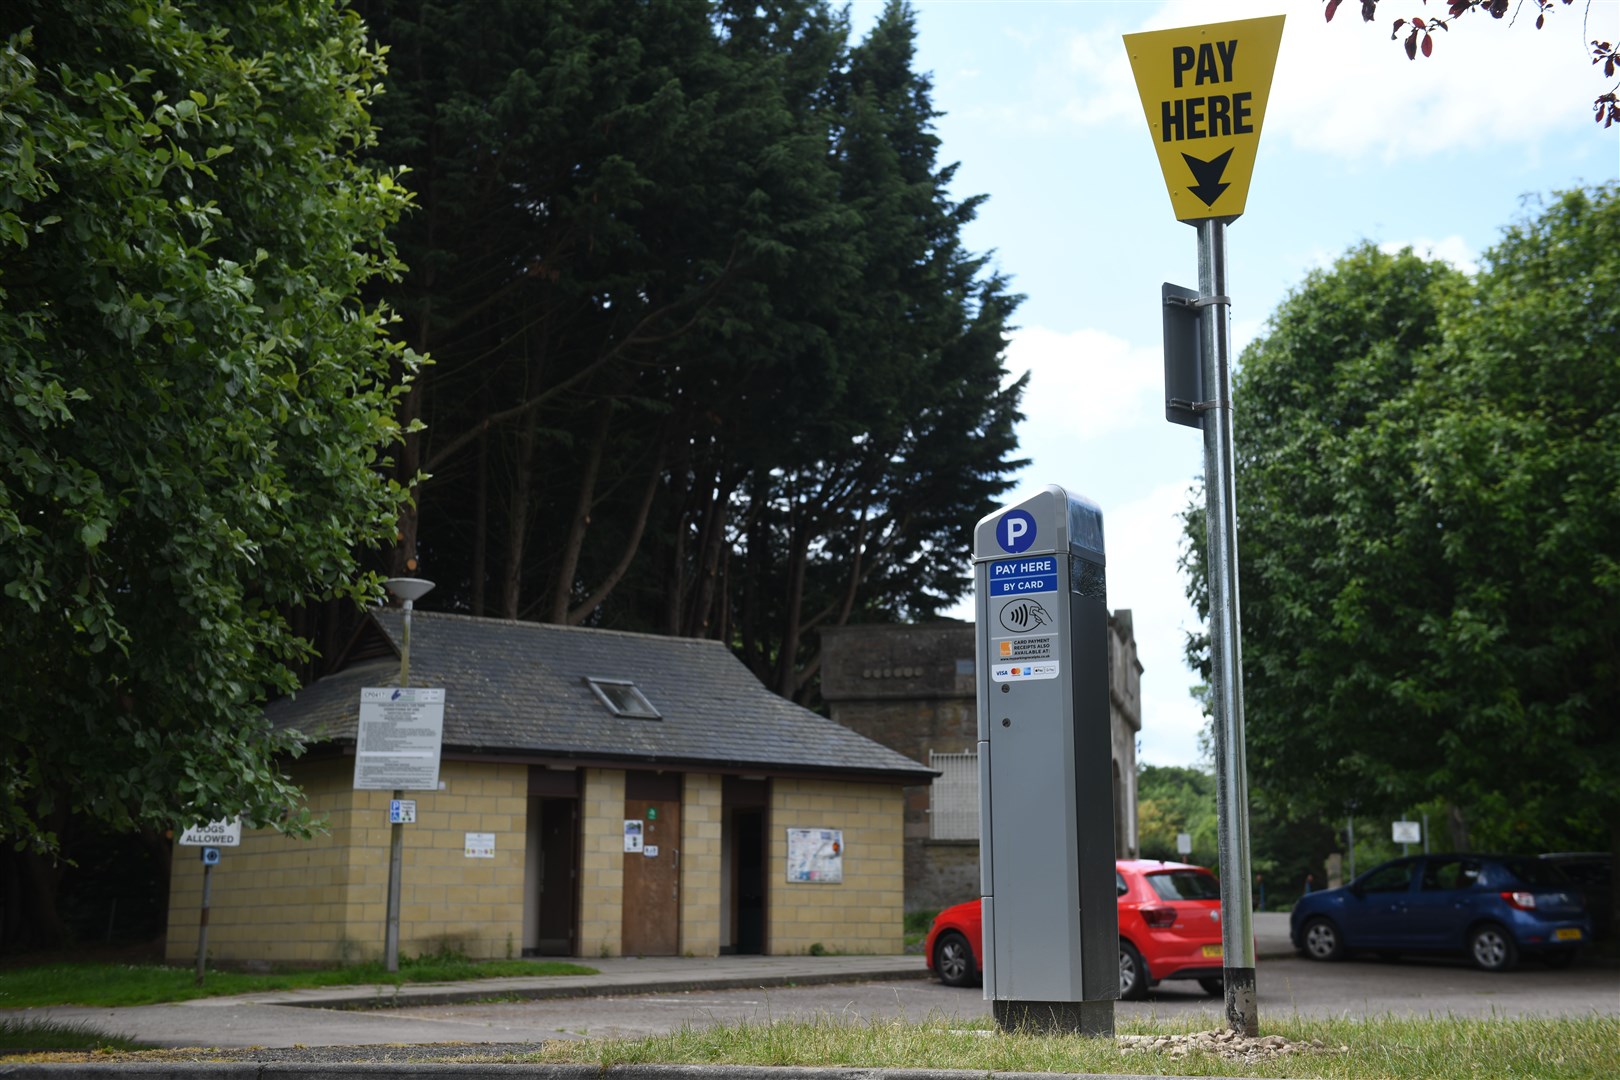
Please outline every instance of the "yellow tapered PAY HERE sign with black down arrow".
[[1176, 220], [1243, 214], [1281, 42], [1281, 15], [1124, 36]]

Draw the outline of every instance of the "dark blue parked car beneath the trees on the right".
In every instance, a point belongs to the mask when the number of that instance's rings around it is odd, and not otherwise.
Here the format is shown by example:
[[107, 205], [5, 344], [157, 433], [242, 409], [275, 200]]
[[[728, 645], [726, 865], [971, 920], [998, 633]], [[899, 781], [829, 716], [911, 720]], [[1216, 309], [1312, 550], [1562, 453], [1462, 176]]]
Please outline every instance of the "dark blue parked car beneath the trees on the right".
[[1396, 858], [1341, 889], [1306, 894], [1288, 929], [1312, 960], [1358, 949], [1450, 952], [1487, 972], [1507, 972], [1521, 955], [1567, 967], [1592, 938], [1580, 887], [1557, 866], [1518, 855]]

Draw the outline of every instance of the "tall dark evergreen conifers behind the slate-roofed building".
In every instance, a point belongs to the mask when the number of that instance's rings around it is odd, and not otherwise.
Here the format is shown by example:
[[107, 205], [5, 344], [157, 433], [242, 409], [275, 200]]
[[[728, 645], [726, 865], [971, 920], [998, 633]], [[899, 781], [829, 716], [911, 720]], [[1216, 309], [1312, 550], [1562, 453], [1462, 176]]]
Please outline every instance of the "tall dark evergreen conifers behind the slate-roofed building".
[[721, 638], [807, 699], [818, 627], [966, 591], [1019, 298], [962, 248], [907, 5], [855, 47], [820, 0], [361, 10], [420, 191], [395, 559], [434, 606]]

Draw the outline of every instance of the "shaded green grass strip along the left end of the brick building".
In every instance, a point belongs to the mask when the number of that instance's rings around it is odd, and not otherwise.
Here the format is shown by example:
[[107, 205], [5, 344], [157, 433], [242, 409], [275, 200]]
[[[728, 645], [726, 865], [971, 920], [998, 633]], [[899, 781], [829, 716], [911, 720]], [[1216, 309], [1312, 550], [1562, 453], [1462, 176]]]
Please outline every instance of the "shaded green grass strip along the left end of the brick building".
[[468, 960], [437, 954], [402, 959], [389, 973], [381, 960], [319, 970], [269, 973], [207, 970], [196, 986], [191, 967], [162, 963], [50, 963], [0, 970], [0, 1009], [34, 1006], [152, 1006], [227, 994], [311, 986], [402, 986], [478, 978], [596, 975], [596, 968], [554, 960]]

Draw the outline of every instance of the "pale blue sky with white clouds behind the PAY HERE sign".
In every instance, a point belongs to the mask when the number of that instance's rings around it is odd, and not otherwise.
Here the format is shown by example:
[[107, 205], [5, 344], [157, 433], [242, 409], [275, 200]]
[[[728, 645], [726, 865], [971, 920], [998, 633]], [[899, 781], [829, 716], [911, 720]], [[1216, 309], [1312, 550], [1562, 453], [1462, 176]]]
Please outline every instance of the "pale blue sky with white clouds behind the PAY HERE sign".
[[[854, 0], [855, 37], [881, 0]], [[957, 199], [985, 194], [972, 251], [1024, 293], [1008, 347], [1030, 374], [1006, 502], [1059, 484], [1102, 507], [1108, 606], [1129, 609], [1142, 662], [1139, 763], [1197, 764], [1204, 717], [1183, 641], [1199, 620], [1176, 568], [1202, 434], [1163, 419], [1160, 285], [1197, 288], [1197, 236], [1174, 219], [1124, 34], [1286, 15], [1247, 206], [1226, 232], [1233, 356], [1312, 269], [1371, 241], [1479, 267], [1539, 196], [1620, 178], [1612, 89], [1584, 42], [1620, 40], [1620, 0], [1555, 5], [1534, 28], [1479, 13], [1408, 60], [1398, 16], [1435, 0], [914, 0], [940, 162]], [[1243, 423], [1243, 402], [1234, 405]], [[1241, 551], [1241, 526], [1239, 526]], [[1239, 581], [1239, 597], [1243, 583]], [[969, 599], [951, 612], [972, 619]]]

